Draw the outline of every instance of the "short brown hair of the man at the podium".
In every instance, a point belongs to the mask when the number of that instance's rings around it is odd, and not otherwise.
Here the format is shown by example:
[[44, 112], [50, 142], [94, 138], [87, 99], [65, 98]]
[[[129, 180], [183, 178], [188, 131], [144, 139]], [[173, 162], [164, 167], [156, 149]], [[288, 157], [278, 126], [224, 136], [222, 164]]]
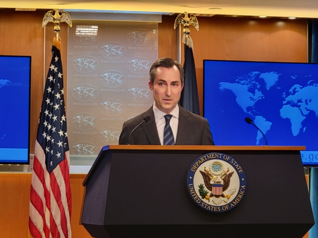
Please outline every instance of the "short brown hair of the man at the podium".
[[157, 68], [158, 67], [164, 67], [164, 68], [172, 68], [173, 66], [176, 66], [180, 72], [180, 79], [181, 79], [181, 85], [183, 85], [183, 78], [184, 78], [184, 71], [183, 71], [183, 67], [181, 66], [181, 64], [176, 61], [173, 60], [171, 58], [161, 58], [159, 60], [156, 60], [153, 65], [151, 65], [150, 68], [150, 83], [153, 85], [155, 78], [157, 76]]

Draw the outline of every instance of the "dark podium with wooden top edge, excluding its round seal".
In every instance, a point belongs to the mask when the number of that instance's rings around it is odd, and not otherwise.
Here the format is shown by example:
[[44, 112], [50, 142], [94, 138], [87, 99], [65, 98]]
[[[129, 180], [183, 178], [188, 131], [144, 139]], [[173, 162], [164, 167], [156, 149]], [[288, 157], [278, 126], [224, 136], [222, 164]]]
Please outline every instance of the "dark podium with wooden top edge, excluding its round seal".
[[[300, 150], [304, 146], [102, 148], [83, 181], [80, 223], [95, 238], [302, 238], [315, 224]], [[246, 192], [231, 211], [194, 204], [190, 165], [221, 152], [239, 162]]]

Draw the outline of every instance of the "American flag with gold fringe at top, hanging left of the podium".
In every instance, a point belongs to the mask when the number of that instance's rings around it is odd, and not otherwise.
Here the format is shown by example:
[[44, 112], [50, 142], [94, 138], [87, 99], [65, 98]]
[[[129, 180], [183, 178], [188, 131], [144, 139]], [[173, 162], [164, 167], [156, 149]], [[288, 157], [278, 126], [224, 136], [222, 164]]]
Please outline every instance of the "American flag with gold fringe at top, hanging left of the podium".
[[70, 154], [66, 131], [61, 41], [52, 60], [35, 142], [30, 192], [29, 237], [71, 238]]

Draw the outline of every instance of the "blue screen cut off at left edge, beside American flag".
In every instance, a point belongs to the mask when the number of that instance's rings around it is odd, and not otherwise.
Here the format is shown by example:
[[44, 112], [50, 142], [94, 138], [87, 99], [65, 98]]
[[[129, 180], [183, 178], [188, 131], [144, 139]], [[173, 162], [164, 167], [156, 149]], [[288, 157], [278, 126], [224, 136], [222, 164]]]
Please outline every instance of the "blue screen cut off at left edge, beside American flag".
[[0, 164], [29, 163], [31, 57], [0, 56]]

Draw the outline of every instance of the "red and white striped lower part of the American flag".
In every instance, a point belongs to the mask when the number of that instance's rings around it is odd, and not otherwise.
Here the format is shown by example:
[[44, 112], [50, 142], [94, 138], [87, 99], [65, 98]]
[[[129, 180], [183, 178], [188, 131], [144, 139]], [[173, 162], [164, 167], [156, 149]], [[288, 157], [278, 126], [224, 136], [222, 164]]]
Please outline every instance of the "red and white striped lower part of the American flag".
[[36, 141], [30, 193], [30, 238], [71, 238], [70, 154], [51, 175], [45, 153]]

